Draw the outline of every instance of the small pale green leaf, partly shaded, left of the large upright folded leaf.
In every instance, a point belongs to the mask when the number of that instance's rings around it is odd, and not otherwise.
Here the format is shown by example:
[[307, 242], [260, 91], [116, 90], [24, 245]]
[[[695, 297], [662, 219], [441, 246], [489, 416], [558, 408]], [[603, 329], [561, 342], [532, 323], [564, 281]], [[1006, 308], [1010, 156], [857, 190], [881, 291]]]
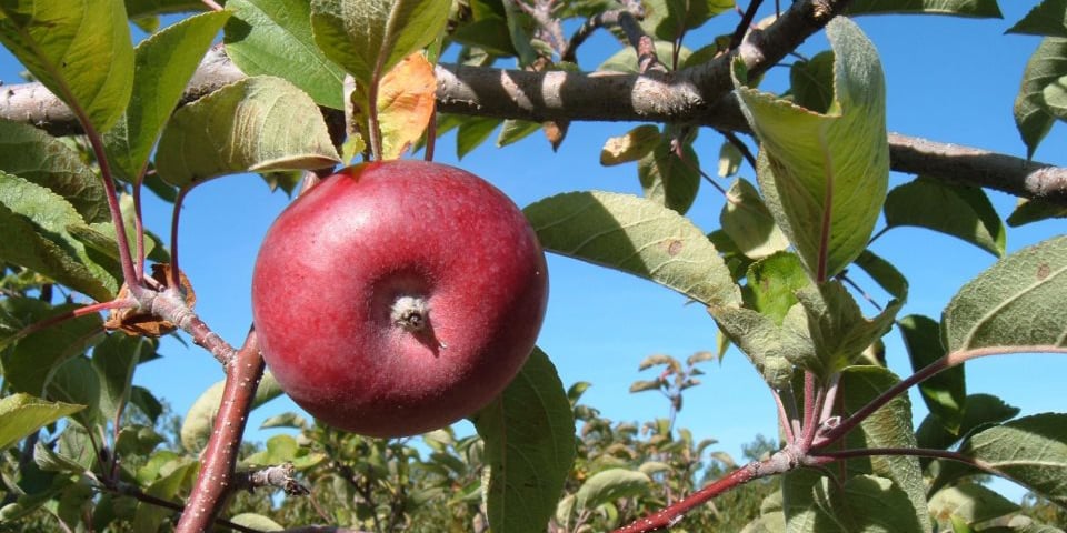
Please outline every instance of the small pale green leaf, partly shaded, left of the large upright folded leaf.
[[751, 259], [766, 258], [789, 248], [789, 240], [748, 180], [734, 180], [719, 213], [722, 231]]

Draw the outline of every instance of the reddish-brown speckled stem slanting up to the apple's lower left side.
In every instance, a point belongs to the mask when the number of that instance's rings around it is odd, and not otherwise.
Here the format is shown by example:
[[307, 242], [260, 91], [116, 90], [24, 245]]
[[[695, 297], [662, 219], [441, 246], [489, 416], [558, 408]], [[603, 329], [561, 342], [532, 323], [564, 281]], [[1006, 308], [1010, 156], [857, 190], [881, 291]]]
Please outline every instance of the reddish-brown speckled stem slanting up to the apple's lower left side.
[[237, 452], [262, 375], [263, 359], [259, 353], [256, 331], [252, 330], [245, 345], [226, 368], [222, 403], [203, 451], [200, 474], [186, 504], [186, 512], [174, 530], [177, 533], [207, 531], [221, 510], [233, 484]]

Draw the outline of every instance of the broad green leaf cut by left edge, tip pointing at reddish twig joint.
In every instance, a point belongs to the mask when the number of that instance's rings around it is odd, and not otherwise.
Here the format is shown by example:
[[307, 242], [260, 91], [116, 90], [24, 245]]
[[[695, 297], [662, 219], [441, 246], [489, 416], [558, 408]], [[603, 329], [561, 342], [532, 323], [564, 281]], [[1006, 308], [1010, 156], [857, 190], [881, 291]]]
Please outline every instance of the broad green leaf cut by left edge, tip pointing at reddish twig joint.
[[92, 262], [67, 229], [86, 222], [62, 197], [0, 172], [0, 260], [34, 270], [100, 302], [111, 300], [118, 281]]

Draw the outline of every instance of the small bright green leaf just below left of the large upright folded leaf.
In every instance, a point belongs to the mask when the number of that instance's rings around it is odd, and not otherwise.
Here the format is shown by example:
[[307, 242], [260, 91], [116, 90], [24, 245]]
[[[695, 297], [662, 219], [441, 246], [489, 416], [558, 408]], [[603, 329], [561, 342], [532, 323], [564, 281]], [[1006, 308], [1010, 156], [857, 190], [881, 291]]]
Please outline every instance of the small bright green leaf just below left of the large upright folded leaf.
[[774, 319], [778, 325], [797, 303], [797, 291], [811, 284], [800, 259], [790, 252], [778, 252], [752, 263], [747, 280], [745, 306]]

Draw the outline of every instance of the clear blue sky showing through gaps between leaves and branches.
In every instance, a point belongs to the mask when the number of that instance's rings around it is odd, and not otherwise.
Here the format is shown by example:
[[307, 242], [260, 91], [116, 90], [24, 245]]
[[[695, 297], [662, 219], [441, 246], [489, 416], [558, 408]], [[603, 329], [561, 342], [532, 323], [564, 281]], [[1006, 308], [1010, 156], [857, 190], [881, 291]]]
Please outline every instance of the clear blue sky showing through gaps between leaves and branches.
[[[968, 144], [1025, 155], [1011, 118], [1011, 104], [1027, 58], [1039, 39], [1005, 36], [1004, 30], [1025, 14], [1028, 6], [1003, 2], [1005, 20], [967, 20], [941, 17], [865, 17], [857, 20], [877, 47], [887, 78], [890, 131], [933, 140]], [[738, 17], [727, 13], [701, 37], [732, 31]], [[601, 32], [579, 50], [584, 64], [596, 66], [614, 52]], [[826, 48], [812, 38], [801, 48], [808, 56]], [[21, 70], [4, 52], [0, 79], [18, 82]], [[785, 87], [786, 69], [775, 69], [767, 89]], [[457, 162], [455, 137], [439, 141], [438, 161], [458, 164], [491, 181], [519, 205], [574, 190], [611, 190], [640, 193], [636, 165], [604, 168], [599, 150], [605, 140], [636, 123], [576, 123], [558, 152], [539, 135], [517, 145], [496, 149], [491, 142]], [[1038, 150], [1036, 159], [1067, 164], [1063, 128], [1057, 127]], [[705, 169], [714, 172], [721, 138], [701, 131], [696, 148]], [[744, 168], [741, 175], [752, 179]], [[894, 174], [891, 184], [909, 177]], [[990, 192], [999, 213], [1006, 217], [1015, 199]], [[258, 243], [288, 199], [270, 193], [256, 177], [239, 175], [209, 182], [187, 199], [181, 224], [181, 265], [197, 293], [197, 311], [225, 339], [239, 344], [250, 323], [249, 286]], [[718, 224], [721, 195], [709, 187], [689, 215], [704, 230]], [[149, 228], [166, 235], [170, 207], [149, 201], [144, 208]], [[1017, 250], [1064, 232], [1063, 221], [1046, 221], [1009, 229], [1008, 249]], [[956, 290], [993, 264], [995, 258], [953, 238], [918, 229], [896, 229], [881, 237], [874, 251], [896, 262], [908, 276], [910, 299], [901, 315], [940, 315]], [[539, 345], [556, 363], [565, 385], [589, 381], [584, 401], [605, 416], [620, 421], [646, 421], [667, 413], [667, 401], [656, 393], [630, 394], [629, 384], [648, 379], [638, 363], [654, 353], [678, 359], [716, 345], [716, 328], [699, 305], [666, 289], [599, 266], [550, 257], [551, 296]], [[860, 278], [861, 279], [861, 278]], [[880, 301], [878, 288], [864, 288]], [[868, 314], [874, 309], [867, 306]], [[293, 324], [299, 328], [299, 323]], [[889, 365], [909, 373], [899, 334], [887, 338]], [[203, 389], [222, 379], [222, 371], [206, 352], [167, 341], [164, 359], [143, 365], [137, 382], [151, 389], [183, 413]], [[721, 363], [705, 363], [704, 384], [687, 391], [679, 426], [697, 438], [714, 438], [712, 446], [740, 457], [741, 445], [757, 433], [774, 435], [776, 418], [770, 395], [742, 354], [730, 351]], [[1067, 358], [1015, 355], [988, 358], [967, 365], [968, 392], [1000, 395], [1024, 414], [1064, 411], [1061, 385], [1054, 376], [1067, 375]], [[925, 413], [913, 394], [919, 418]], [[266, 440], [271, 432], [257, 431], [268, 415], [296, 410], [288, 401], [261, 408], [250, 419], [249, 438]], [[918, 420], [918, 419], [917, 419]], [[1013, 490], [1014, 493], [1020, 492]]]

